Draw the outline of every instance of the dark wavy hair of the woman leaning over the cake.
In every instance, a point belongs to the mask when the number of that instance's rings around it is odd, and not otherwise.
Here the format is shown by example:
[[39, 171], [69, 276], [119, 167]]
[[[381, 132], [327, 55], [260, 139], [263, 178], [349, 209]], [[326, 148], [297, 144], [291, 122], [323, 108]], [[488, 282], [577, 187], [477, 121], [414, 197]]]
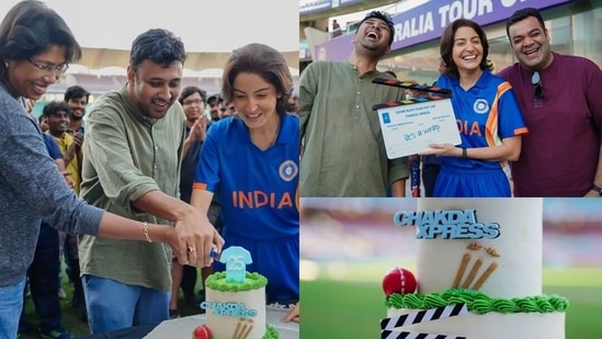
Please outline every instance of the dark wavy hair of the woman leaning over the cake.
[[231, 102], [234, 80], [240, 72], [255, 74], [270, 82], [280, 95], [276, 100], [276, 112], [281, 115], [286, 113], [294, 84], [282, 53], [263, 44], [249, 44], [235, 49], [226, 61], [222, 77], [222, 95], [225, 102]]

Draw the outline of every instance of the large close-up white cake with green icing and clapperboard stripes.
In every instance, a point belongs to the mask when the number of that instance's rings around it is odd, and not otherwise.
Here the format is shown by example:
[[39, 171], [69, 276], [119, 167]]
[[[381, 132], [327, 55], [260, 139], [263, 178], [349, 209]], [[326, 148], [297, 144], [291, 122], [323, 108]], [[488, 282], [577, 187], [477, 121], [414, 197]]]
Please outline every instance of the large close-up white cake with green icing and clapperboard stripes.
[[397, 212], [417, 228], [418, 291], [386, 297], [382, 338], [564, 339], [568, 301], [542, 294], [542, 203], [421, 199]]

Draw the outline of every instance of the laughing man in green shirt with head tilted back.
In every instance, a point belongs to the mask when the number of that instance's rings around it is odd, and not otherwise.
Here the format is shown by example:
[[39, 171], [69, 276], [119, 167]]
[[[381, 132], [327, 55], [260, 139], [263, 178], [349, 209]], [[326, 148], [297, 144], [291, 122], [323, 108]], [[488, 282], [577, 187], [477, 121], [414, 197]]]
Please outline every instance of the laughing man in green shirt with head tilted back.
[[368, 13], [352, 38], [347, 61], [315, 61], [300, 77], [302, 196], [405, 196], [407, 158], [386, 155], [377, 103], [400, 100], [404, 91], [372, 83], [391, 78], [376, 70], [390, 52], [394, 24], [386, 13]]

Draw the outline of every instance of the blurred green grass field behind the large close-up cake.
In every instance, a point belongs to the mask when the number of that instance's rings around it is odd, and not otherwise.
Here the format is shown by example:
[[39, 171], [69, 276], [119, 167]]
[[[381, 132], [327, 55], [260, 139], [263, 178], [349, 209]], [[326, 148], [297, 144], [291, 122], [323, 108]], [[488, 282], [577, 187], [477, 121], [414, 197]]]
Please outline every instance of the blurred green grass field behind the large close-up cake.
[[[302, 281], [302, 338], [378, 338], [385, 296], [379, 280], [365, 282], [370, 271], [353, 270], [344, 281]], [[545, 270], [544, 293], [569, 300], [567, 339], [602, 338], [602, 269]]]

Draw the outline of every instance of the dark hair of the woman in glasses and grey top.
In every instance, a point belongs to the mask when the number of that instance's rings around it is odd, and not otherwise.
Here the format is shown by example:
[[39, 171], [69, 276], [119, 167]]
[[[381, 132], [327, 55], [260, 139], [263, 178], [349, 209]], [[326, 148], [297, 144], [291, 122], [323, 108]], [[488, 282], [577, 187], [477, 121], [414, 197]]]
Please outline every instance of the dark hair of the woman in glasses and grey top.
[[[65, 47], [67, 64], [81, 59], [81, 47], [65, 20], [42, 1], [16, 3], [0, 23], [0, 60], [27, 60], [53, 46]], [[0, 63], [0, 72], [5, 68]]]

